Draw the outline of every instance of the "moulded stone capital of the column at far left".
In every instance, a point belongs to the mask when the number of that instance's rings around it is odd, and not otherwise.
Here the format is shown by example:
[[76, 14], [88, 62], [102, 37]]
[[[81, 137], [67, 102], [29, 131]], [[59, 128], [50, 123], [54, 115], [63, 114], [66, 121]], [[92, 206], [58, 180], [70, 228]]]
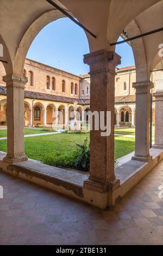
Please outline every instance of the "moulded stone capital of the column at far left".
[[24, 88], [24, 85], [28, 82], [28, 79], [21, 75], [9, 74], [3, 76], [3, 81], [6, 83], [7, 87], [14, 86]]

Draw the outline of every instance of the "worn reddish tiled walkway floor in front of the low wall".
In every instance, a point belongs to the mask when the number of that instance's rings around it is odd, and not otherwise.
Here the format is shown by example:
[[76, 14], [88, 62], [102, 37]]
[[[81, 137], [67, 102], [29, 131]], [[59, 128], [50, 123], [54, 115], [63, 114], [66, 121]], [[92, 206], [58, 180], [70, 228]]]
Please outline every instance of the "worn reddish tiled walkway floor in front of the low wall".
[[163, 244], [163, 162], [104, 211], [2, 172], [0, 185], [1, 245]]

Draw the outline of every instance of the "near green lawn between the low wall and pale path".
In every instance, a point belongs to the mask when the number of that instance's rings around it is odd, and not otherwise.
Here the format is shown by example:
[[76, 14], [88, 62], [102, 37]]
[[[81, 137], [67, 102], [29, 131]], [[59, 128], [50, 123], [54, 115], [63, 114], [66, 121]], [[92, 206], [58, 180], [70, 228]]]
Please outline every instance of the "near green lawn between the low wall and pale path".
[[[84, 139], [89, 139], [89, 133], [78, 135], [59, 133], [55, 135], [24, 138], [26, 155], [35, 160], [42, 160], [42, 155], [53, 150], [70, 151], [76, 148], [76, 143], [83, 144]], [[115, 157], [119, 158], [134, 151], [134, 138], [115, 137]], [[0, 150], [7, 151], [7, 140], [0, 141]]]

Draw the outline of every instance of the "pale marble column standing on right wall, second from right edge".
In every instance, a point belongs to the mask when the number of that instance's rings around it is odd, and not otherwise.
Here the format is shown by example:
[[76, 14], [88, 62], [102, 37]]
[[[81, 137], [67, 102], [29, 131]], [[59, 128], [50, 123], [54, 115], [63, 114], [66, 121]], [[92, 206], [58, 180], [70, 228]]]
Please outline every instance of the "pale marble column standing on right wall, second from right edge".
[[151, 81], [133, 83], [136, 89], [135, 156], [133, 160], [149, 162], [149, 117]]

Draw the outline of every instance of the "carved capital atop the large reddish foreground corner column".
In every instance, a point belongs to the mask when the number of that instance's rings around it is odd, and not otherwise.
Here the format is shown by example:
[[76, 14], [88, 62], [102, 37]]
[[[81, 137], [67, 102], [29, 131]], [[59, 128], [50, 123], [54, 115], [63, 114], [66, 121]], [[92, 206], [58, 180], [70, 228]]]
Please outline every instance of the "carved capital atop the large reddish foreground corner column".
[[115, 72], [115, 67], [121, 64], [121, 57], [116, 52], [103, 49], [85, 54], [84, 63], [90, 65], [90, 73], [97, 71]]

